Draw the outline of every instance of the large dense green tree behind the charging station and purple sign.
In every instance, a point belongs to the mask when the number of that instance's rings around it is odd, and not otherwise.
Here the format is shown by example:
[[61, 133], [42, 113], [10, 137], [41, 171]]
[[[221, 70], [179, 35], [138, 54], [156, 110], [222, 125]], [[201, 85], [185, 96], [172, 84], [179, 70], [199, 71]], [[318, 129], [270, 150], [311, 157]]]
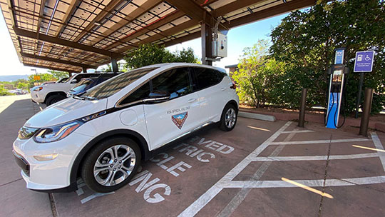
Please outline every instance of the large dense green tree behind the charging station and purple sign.
[[[372, 111], [385, 106], [385, 2], [378, 0], [320, 1], [307, 11], [294, 11], [272, 31], [270, 52], [284, 61], [286, 71], [277, 89], [286, 96], [279, 104], [298, 106], [302, 87], [310, 105], [326, 105], [334, 49], [347, 48], [349, 67], [345, 108], [354, 111], [359, 74], [353, 73], [356, 51], [376, 52], [374, 72], [366, 74], [365, 87], [374, 88]], [[364, 99], [362, 97], [361, 99]]]

